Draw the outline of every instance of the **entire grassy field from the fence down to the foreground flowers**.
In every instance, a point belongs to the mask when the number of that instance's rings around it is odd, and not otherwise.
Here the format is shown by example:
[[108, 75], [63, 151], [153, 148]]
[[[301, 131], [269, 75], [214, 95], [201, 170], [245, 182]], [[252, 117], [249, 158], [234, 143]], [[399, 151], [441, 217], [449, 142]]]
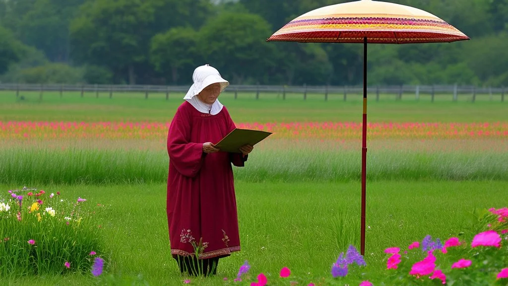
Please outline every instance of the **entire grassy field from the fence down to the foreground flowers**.
[[[163, 94], [145, 100], [133, 94], [109, 99], [107, 94], [60, 98], [58, 93], [44, 93], [41, 102], [38, 93], [25, 96], [16, 101], [12, 93], [0, 92], [2, 189], [6, 192], [26, 184], [108, 206], [107, 216], [100, 219], [112, 259], [100, 277], [0, 279], [12, 285], [182, 284], [184, 278], [169, 252], [164, 126], [112, 131], [109, 125], [90, 130], [55, 125], [54, 130], [20, 127], [19, 131], [6, 124], [166, 124], [183, 95], [171, 95], [166, 101]], [[235, 168], [242, 251], [220, 262], [217, 277], [193, 279], [192, 284], [233, 283], [244, 260], [252, 267], [251, 281], [264, 272], [274, 284], [287, 285], [276, 279], [280, 268], [287, 266], [300, 285], [348, 283], [332, 279], [330, 267], [349, 244], [359, 247], [358, 125], [337, 129], [304, 124], [359, 123], [361, 101], [340, 99], [221, 96], [237, 124], [276, 123], [279, 129], [256, 146], [246, 167]], [[368, 278], [380, 281], [386, 247], [407, 245], [428, 234], [444, 240], [463, 232], [470, 239], [479, 223], [475, 210], [508, 205], [508, 136], [504, 133], [508, 103], [451, 102], [448, 96], [437, 96], [433, 103], [424, 97], [418, 102], [414, 97], [395, 101], [386, 95], [379, 102], [370, 100], [368, 112], [369, 123], [400, 123], [393, 128], [372, 126], [369, 131], [366, 261]], [[287, 123], [296, 125], [285, 132], [280, 124]]]

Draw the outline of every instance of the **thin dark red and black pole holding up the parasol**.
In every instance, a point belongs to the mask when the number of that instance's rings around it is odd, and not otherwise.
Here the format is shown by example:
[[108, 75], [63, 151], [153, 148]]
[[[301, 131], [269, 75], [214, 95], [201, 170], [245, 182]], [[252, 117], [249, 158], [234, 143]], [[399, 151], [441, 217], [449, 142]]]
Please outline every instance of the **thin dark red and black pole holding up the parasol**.
[[367, 37], [363, 38], [362, 217], [360, 254], [365, 254], [365, 187], [367, 169]]

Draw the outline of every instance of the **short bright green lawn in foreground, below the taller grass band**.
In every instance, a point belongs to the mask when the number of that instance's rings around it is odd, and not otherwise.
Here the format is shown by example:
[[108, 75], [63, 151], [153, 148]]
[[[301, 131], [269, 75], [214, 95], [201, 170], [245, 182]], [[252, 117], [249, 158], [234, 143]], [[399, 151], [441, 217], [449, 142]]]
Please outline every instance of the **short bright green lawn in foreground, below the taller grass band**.
[[[12, 186], [0, 186], [8, 189]], [[181, 285], [171, 258], [166, 218], [166, 184], [39, 186], [68, 197], [86, 194], [87, 203], [108, 206], [103, 233], [111, 258], [99, 276], [0, 277], [13, 285], [146, 284]], [[217, 277], [190, 278], [192, 284], [225, 285], [245, 260], [251, 278], [265, 273], [272, 284], [284, 266], [291, 280], [337, 284], [330, 268], [349, 244], [360, 243], [360, 183], [247, 183], [236, 181], [242, 250], [220, 261]], [[506, 206], [506, 182], [410, 182], [369, 184], [365, 259], [369, 279], [383, 279], [386, 247], [409, 245], [426, 235], [444, 241], [471, 240], [479, 223], [476, 210]], [[149, 203], [147, 203], [149, 202]], [[228, 277], [229, 281], [223, 281]], [[114, 281], [110, 283], [110, 281]], [[122, 282], [123, 281], [123, 282]], [[347, 283], [341, 280], [342, 284]], [[385, 281], [389, 282], [389, 281]], [[376, 284], [376, 283], [374, 283]]]

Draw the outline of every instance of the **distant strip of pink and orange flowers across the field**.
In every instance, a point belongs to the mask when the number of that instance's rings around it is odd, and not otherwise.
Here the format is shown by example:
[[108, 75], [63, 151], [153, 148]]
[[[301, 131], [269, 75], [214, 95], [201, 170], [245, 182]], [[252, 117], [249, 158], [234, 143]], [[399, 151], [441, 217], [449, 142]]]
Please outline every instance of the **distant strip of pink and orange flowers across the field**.
[[[169, 122], [0, 121], [0, 139], [141, 138], [165, 139]], [[239, 123], [238, 128], [274, 132], [278, 138], [358, 139], [356, 122]], [[508, 123], [368, 123], [369, 138], [506, 138]]]

